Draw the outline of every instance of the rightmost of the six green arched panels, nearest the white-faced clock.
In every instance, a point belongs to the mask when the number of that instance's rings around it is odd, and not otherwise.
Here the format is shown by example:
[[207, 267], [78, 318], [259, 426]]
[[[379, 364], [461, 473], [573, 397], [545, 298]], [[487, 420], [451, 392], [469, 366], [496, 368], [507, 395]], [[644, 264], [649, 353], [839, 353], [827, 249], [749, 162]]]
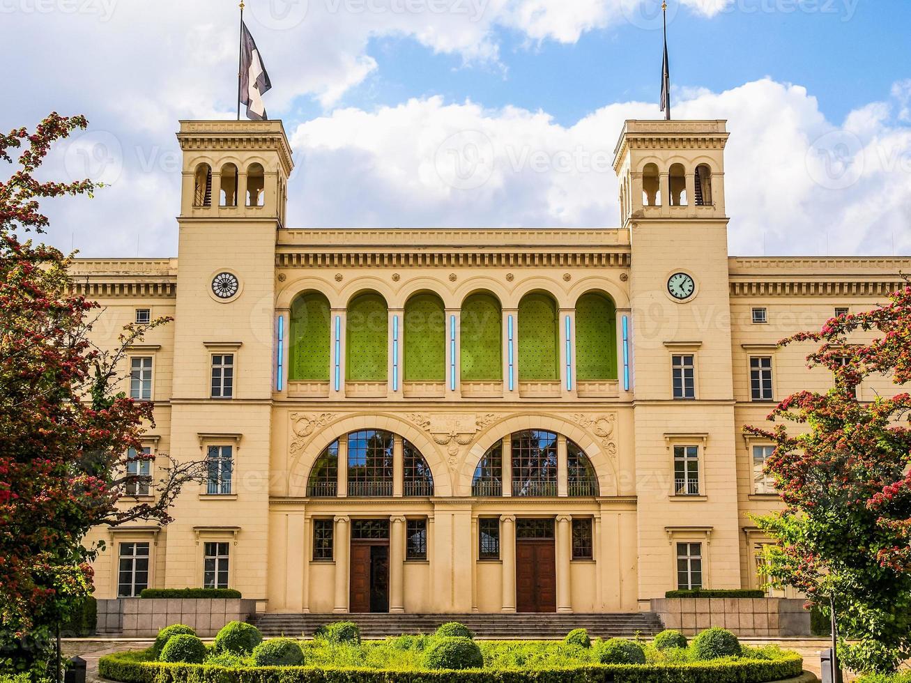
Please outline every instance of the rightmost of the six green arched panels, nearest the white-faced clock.
[[579, 382], [617, 379], [617, 309], [599, 292], [576, 301], [576, 376]]

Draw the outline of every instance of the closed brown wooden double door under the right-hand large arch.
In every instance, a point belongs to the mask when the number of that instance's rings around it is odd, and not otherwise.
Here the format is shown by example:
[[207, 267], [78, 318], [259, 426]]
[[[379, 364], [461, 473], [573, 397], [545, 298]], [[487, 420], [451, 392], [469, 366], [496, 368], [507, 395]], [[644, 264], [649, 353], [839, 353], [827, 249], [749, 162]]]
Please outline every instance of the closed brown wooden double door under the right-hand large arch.
[[517, 520], [516, 611], [557, 611], [557, 545], [553, 520]]

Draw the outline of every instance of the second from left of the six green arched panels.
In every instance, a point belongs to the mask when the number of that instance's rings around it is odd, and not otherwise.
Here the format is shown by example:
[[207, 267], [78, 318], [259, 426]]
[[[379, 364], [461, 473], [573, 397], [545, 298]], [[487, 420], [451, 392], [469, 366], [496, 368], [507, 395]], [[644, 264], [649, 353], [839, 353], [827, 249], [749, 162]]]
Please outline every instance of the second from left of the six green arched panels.
[[348, 304], [347, 371], [353, 382], [386, 381], [389, 312], [376, 292], [360, 294]]

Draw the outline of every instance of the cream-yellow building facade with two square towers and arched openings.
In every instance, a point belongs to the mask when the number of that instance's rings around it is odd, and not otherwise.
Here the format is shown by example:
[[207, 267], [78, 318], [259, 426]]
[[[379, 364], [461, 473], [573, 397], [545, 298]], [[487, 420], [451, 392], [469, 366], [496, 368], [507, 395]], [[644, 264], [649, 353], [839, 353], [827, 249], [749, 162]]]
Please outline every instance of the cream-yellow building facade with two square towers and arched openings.
[[173, 317], [128, 350], [124, 391], [155, 403], [157, 460], [134, 471], [205, 459], [210, 478], [170, 525], [93, 533], [98, 597], [599, 613], [758, 587], [750, 515], [778, 499], [742, 427], [832, 385], [776, 342], [911, 269], [730, 257], [723, 121], [626, 123], [616, 229], [292, 229], [280, 121], [178, 137], [179, 258], [73, 276], [101, 345]]

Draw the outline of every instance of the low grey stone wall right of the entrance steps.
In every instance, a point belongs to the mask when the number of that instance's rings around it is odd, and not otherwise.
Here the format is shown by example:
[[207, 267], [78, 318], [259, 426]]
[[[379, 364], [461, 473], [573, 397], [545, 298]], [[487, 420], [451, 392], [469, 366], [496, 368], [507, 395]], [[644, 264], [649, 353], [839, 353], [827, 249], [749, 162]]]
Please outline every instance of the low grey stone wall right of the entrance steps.
[[665, 597], [651, 611], [667, 628], [691, 636], [722, 627], [740, 637], [808, 637], [810, 613], [804, 600], [783, 597]]

